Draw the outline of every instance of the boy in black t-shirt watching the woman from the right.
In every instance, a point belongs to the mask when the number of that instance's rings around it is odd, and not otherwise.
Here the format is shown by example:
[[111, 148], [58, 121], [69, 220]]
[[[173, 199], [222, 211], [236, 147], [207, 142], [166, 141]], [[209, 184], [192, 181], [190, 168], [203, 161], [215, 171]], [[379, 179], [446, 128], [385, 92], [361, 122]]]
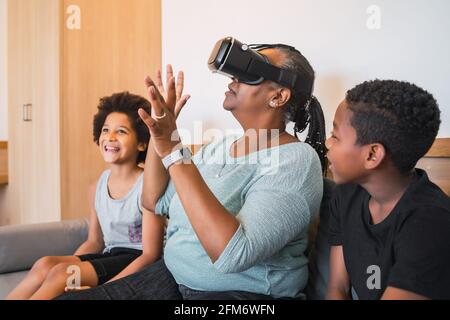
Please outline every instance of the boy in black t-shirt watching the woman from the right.
[[436, 100], [406, 82], [347, 92], [327, 140], [337, 187], [330, 204], [328, 299], [450, 298], [450, 199], [417, 161], [440, 125]]

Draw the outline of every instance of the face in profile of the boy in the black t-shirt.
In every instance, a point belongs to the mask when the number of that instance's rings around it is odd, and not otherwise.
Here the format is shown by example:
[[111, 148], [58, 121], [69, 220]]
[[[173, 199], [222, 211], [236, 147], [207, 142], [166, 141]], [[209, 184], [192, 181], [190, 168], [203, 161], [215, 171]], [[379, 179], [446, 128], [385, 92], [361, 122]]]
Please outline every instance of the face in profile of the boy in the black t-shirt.
[[367, 146], [357, 144], [356, 130], [351, 125], [352, 112], [344, 100], [333, 121], [331, 137], [326, 141], [329, 168], [336, 183], [358, 183], [366, 174]]

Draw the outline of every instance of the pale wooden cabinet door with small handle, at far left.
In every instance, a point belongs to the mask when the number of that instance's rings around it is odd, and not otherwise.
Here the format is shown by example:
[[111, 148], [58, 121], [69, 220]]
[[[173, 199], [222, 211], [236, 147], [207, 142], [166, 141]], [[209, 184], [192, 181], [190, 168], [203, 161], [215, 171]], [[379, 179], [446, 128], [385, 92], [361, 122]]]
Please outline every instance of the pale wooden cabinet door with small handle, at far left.
[[[8, 185], [0, 224], [55, 221], [59, 202], [60, 0], [8, 1]], [[31, 103], [32, 121], [22, 106]]]

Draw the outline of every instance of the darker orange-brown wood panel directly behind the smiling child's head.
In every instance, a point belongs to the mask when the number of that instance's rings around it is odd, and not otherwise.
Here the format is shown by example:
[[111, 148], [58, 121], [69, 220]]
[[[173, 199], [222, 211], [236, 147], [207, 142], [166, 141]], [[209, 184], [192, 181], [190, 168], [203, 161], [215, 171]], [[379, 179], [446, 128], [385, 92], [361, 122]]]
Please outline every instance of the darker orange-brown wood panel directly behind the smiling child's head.
[[106, 168], [92, 133], [99, 99], [125, 90], [147, 97], [143, 79], [161, 68], [161, 3], [63, 2], [81, 9], [80, 30], [62, 26], [61, 204], [71, 219], [89, 214], [88, 186]]

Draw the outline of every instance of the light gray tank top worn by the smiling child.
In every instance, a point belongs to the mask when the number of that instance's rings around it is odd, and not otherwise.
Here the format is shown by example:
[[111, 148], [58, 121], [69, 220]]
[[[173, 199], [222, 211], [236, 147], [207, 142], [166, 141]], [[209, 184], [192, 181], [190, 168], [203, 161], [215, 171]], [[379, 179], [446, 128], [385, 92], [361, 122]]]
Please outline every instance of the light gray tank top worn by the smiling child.
[[142, 250], [142, 211], [140, 206], [142, 173], [128, 194], [121, 199], [112, 199], [108, 190], [111, 170], [100, 176], [95, 191], [95, 210], [103, 232], [105, 250], [130, 248]]

